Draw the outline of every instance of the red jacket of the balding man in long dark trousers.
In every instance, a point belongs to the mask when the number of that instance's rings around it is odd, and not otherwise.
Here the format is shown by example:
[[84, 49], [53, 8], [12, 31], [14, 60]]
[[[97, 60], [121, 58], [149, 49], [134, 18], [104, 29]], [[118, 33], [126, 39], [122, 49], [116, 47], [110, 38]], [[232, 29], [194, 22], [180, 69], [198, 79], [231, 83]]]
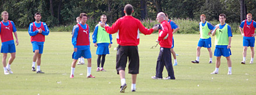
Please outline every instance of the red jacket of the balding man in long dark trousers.
[[[172, 27], [166, 20], [163, 20], [161, 22], [161, 26], [162, 26], [162, 30], [159, 30], [159, 36], [158, 36], [159, 45], [161, 47], [170, 48], [172, 47], [172, 32], [173, 32]], [[164, 39], [167, 35], [168, 37]]]

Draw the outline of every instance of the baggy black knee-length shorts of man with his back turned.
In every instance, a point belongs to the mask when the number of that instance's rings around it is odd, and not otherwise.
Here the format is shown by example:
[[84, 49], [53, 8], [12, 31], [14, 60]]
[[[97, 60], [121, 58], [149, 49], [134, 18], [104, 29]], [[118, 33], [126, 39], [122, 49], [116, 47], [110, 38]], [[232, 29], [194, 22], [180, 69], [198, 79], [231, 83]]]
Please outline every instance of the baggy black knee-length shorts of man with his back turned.
[[118, 71], [119, 74], [119, 70], [125, 70], [127, 57], [129, 58], [128, 73], [138, 74], [140, 67], [138, 46], [118, 46], [118, 52], [116, 53], [116, 71]]

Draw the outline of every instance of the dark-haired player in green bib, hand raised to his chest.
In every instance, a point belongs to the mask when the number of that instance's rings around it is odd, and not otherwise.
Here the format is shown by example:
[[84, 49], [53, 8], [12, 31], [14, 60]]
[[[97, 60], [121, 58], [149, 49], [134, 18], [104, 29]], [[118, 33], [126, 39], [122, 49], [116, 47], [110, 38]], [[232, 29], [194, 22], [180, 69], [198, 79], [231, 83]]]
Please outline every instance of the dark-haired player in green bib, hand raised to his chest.
[[216, 68], [215, 71], [211, 74], [219, 74], [219, 66], [221, 65], [221, 56], [226, 57], [227, 60], [227, 66], [229, 68], [229, 71], [227, 72], [227, 75], [232, 75], [232, 67], [231, 67], [231, 37], [232, 37], [232, 31], [231, 27], [225, 23], [226, 15], [225, 14], [219, 14], [219, 22], [220, 24], [215, 25], [214, 31], [212, 31], [212, 36], [215, 36], [215, 50], [214, 50], [214, 56], [216, 56]]

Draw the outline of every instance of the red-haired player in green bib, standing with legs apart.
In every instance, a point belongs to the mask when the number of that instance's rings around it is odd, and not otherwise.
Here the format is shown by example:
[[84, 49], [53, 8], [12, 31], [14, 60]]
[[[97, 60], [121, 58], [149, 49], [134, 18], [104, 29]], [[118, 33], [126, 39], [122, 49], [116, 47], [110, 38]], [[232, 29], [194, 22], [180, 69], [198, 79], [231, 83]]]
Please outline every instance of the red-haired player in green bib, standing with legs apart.
[[200, 16], [201, 22], [199, 23], [200, 40], [198, 41], [198, 44], [197, 44], [197, 58], [195, 59], [195, 61], [191, 61], [191, 63], [197, 63], [197, 64], [199, 63], [201, 47], [207, 47], [209, 52], [209, 64], [212, 63], [212, 50], [211, 50], [212, 38], [210, 36], [210, 33], [212, 32], [212, 30], [214, 30], [214, 25], [212, 25], [205, 19], [206, 19], [205, 15], [201, 14]]

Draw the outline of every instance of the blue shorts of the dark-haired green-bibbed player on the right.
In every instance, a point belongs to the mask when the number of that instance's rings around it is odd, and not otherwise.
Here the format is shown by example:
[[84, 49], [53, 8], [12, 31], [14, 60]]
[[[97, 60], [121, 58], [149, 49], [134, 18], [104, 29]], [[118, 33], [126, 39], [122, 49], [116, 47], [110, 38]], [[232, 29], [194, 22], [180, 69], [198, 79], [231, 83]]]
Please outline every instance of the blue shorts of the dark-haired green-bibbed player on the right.
[[230, 55], [231, 55], [231, 50], [227, 49], [227, 45], [224, 45], [223, 47], [215, 47], [214, 56], [216, 56], [216, 57], [219, 57], [219, 56], [229, 57]]

